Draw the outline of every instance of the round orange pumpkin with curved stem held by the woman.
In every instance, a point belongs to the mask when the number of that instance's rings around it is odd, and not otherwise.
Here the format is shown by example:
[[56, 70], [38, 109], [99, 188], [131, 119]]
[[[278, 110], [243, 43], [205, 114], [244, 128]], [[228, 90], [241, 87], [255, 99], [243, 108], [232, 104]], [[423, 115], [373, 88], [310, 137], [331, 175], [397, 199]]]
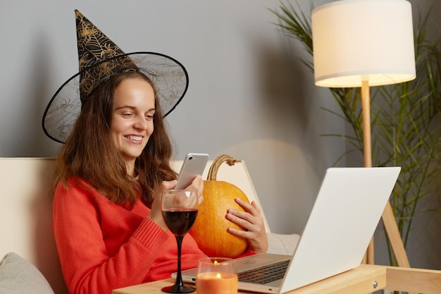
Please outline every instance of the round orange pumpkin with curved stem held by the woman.
[[230, 208], [243, 211], [235, 198], [246, 202], [249, 200], [237, 186], [216, 180], [219, 166], [225, 161], [232, 166], [237, 160], [221, 155], [213, 161], [207, 180], [204, 181], [204, 202], [199, 205], [196, 221], [190, 231], [199, 248], [209, 257], [237, 257], [248, 246], [247, 240], [237, 238], [227, 231], [229, 227], [242, 230], [225, 217]]

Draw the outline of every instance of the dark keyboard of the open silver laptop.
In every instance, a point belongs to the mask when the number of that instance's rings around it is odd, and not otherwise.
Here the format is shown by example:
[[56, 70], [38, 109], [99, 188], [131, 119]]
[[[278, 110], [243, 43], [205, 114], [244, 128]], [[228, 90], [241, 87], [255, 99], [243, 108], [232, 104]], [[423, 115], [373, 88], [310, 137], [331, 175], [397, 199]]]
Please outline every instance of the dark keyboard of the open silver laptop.
[[283, 278], [288, 264], [290, 264], [290, 259], [264, 267], [242, 271], [237, 274], [237, 276], [241, 282], [266, 284]]

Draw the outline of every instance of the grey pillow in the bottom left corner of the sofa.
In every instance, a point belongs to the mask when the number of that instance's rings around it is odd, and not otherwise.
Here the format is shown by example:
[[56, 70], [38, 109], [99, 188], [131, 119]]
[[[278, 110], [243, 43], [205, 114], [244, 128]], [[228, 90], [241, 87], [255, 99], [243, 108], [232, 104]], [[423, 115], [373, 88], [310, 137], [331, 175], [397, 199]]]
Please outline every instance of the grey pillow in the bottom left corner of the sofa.
[[0, 294], [54, 294], [54, 290], [37, 267], [10, 252], [0, 264]]

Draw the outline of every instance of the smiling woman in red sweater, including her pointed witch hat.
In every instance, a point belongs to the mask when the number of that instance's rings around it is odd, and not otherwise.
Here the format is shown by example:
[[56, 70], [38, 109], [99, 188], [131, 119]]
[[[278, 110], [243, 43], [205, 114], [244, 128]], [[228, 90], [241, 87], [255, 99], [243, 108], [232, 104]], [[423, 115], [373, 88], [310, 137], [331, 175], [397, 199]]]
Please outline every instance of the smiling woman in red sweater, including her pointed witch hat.
[[[177, 176], [162, 106], [173, 109], [188, 80], [180, 63], [159, 54], [129, 57], [81, 13], [76, 16], [80, 97], [63, 85], [44, 118], [46, 134], [66, 141], [56, 159], [54, 235], [69, 292], [111, 293], [175, 271], [174, 235], [156, 197], [172, 189]], [[190, 188], [201, 196], [201, 178]], [[196, 267], [201, 257], [197, 243], [186, 238], [182, 267]]]

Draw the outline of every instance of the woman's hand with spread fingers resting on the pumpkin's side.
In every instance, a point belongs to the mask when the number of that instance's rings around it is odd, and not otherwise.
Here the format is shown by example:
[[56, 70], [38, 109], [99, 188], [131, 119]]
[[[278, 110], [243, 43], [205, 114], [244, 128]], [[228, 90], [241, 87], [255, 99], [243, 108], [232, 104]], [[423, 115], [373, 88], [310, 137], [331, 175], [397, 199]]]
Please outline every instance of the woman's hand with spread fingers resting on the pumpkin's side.
[[228, 228], [228, 232], [239, 238], [247, 239], [249, 248], [254, 252], [266, 252], [268, 250], [268, 236], [266, 235], [261, 210], [254, 201], [251, 204], [240, 198], [236, 198], [235, 201], [244, 209], [244, 212], [237, 209], [228, 209], [227, 219], [242, 227], [243, 231]]

